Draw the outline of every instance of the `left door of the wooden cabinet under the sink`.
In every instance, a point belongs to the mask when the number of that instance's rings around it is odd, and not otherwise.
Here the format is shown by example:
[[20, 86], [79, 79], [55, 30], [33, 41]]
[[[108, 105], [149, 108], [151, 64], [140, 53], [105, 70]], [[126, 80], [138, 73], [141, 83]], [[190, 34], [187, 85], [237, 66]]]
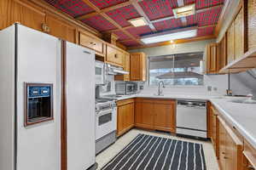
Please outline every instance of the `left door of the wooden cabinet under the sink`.
[[154, 103], [150, 100], [139, 99], [135, 106], [135, 125], [143, 128], [154, 128]]

